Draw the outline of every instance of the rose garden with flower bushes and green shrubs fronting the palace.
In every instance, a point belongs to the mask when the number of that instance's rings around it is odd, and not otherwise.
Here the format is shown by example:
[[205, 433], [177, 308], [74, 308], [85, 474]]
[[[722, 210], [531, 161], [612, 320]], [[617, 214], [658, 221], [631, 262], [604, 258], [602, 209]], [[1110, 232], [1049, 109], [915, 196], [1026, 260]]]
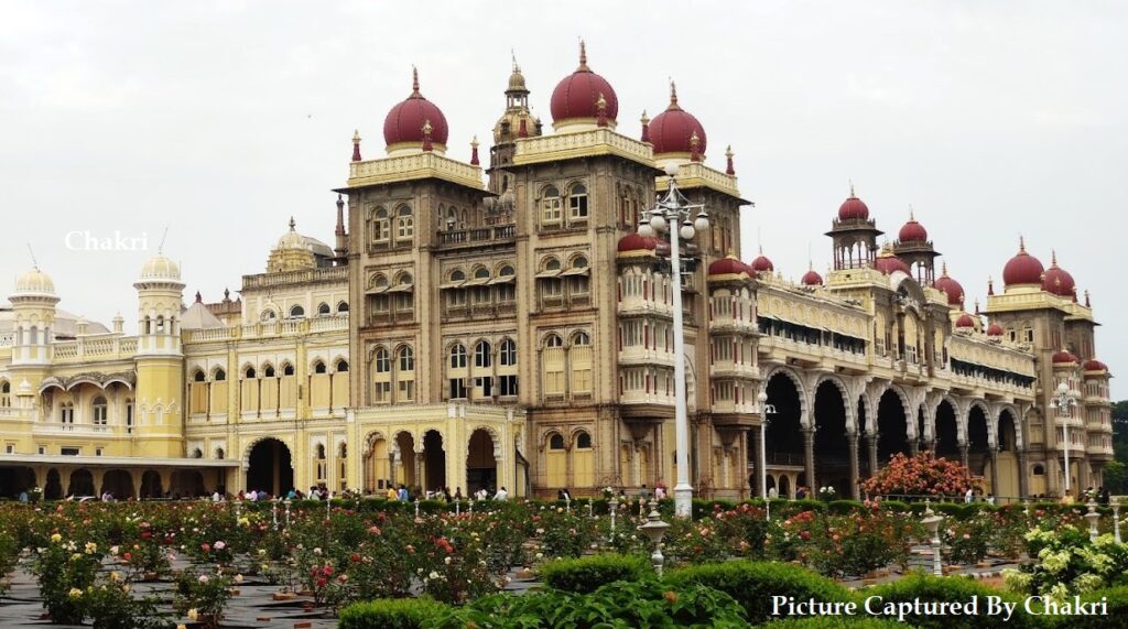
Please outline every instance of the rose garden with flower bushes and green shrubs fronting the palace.
[[[935, 497], [697, 500], [691, 521], [673, 517], [668, 500], [616, 497], [9, 503], [0, 505], [0, 591], [7, 619], [121, 629], [1004, 623], [904, 610], [786, 612], [796, 601], [858, 606], [873, 597], [1040, 596], [1128, 612], [1118, 512]], [[646, 533], [660, 524], [655, 546]], [[950, 576], [933, 576], [937, 567]], [[1006, 626], [1120, 622], [1017, 606]]]

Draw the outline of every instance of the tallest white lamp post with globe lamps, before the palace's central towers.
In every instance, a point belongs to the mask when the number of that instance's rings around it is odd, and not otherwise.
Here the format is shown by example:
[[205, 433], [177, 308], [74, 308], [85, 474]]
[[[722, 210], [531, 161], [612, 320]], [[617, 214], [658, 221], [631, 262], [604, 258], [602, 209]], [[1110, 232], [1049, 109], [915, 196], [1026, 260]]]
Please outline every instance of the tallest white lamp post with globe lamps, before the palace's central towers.
[[[689, 203], [689, 200], [678, 192], [675, 181], [675, 176], [678, 174], [677, 165], [667, 166], [666, 174], [670, 177], [670, 187], [666, 196], [658, 201], [653, 210], [649, 211], [650, 222], [644, 220], [638, 225], [638, 233], [645, 237], [668, 236], [670, 239], [670, 268], [675, 277], [672, 291], [673, 395], [675, 436], [678, 451], [678, 484], [673, 487], [673, 508], [678, 517], [689, 517], [693, 514], [694, 488], [689, 485], [689, 417], [686, 410], [686, 338], [681, 321], [680, 240], [688, 243], [698, 232], [704, 233], [708, 229], [708, 214], [705, 213], [704, 205]], [[697, 215], [690, 222], [694, 211], [697, 212]]]

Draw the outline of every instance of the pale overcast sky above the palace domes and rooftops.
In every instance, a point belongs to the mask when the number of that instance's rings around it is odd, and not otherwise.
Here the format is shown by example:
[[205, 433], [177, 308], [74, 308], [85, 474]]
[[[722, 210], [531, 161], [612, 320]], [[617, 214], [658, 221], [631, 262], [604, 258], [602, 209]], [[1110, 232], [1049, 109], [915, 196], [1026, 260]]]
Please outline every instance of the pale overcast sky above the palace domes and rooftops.
[[[467, 160], [504, 107], [510, 50], [547, 130], [583, 37], [620, 132], [664, 108], [672, 77], [708, 162], [732, 144], [756, 202], [746, 260], [759, 231], [787, 276], [809, 247], [825, 271], [852, 179], [891, 238], [916, 209], [969, 309], [1020, 233], [1047, 266], [1056, 248], [1119, 372], [1126, 32], [1116, 1], [0, 0], [0, 278], [10, 291], [29, 242], [60, 308], [107, 325], [121, 311], [129, 329], [132, 283], [168, 228], [185, 300], [218, 300], [264, 269], [291, 215], [332, 245], [352, 132], [382, 154], [412, 64], [447, 115], [448, 154]], [[149, 251], [71, 250], [72, 231]]]

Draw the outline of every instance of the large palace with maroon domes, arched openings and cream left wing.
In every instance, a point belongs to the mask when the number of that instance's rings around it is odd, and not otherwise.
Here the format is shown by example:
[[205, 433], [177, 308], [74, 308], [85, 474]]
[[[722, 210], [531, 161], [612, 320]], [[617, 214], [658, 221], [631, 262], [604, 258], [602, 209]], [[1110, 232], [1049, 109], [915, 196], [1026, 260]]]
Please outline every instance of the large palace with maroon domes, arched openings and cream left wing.
[[[793, 283], [741, 251], [751, 204], [733, 152], [707, 165], [672, 85], [627, 133], [581, 45], [550, 130], [529, 96], [514, 63], [488, 163], [476, 139], [460, 161], [416, 74], [384, 121], [385, 154], [353, 138], [333, 246], [290, 220], [236, 300], [185, 307], [158, 255], [129, 336], [121, 316], [106, 328], [59, 309], [43, 271], [20, 276], [0, 307], [0, 494], [672, 487], [677, 361], [705, 497], [857, 496], [890, 455], [923, 450], [997, 496], [1060, 495], [1065, 473], [1075, 491], [1101, 484], [1110, 374], [1089, 294], [1056, 256], [1046, 268], [1017, 243], [1001, 290], [969, 310], [924, 225], [881, 239], [851, 191], [829, 220], [830, 268]], [[671, 179], [711, 223], [678, 274], [669, 243], [637, 229]], [[987, 272], [971, 267], [952, 263]], [[1060, 383], [1068, 415], [1051, 404]]]

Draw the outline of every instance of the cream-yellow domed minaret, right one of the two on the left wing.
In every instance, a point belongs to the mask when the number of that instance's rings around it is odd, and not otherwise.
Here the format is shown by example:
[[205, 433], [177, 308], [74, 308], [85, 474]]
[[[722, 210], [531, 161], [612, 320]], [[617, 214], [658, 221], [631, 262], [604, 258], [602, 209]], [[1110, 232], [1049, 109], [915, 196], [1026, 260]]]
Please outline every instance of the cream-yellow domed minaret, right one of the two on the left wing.
[[158, 254], [144, 263], [138, 291], [136, 406], [133, 455], [184, 455], [184, 354], [180, 268]]

